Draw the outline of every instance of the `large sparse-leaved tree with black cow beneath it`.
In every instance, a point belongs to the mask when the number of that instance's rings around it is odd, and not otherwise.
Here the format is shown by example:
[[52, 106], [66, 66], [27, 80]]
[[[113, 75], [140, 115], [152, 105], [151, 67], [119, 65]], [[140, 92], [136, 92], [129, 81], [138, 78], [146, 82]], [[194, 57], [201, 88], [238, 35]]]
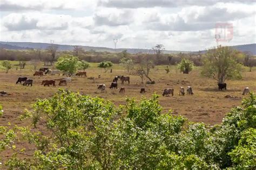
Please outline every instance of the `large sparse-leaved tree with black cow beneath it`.
[[236, 60], [236, 52], [230, 47], [208, 49], [201, 75], [224, 83], [226, 79], [241, 79], [242, 66]]

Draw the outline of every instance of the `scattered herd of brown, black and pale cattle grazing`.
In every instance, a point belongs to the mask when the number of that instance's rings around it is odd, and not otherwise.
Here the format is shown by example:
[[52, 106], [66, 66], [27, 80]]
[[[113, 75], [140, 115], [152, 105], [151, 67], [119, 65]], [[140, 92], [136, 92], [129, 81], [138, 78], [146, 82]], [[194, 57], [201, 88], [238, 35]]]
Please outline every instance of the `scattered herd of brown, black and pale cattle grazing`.
[[[47, 67], [42, 67], [40, 68], [38, 71], [36, 71], [33, 76], [43, 76], [43, 75], [46, 75], [46, 74], [49, 74], [49, 75], [60, 75], [61, 74], [61, 71], [58, 70], [58, 69], [49, 69]], [[64, 73], [63, 75], [69, 75], [67, 73]], [[75, 74], [76, 76], [84, 76], [86, 77], [86, 72], [78, 72]], [[100, 78], [100, 74], [98, 75], [98, 77]], [[110, 89], [117, 89], [117, 86], [118, 86], [118, 80], [120, 79], [121, 81], [121, 84], [124, 84], [124, 82], [128, 82], [130, 84], [130, 77], [129, 76], [115, 76], [112, 83], [110, 84]], [[43, 80], [42, 81], [42, 84], [43, 86], [50, 86], [52, 85], [53, 87], [56, 87], [56, 81], [57, 80]], [[65, 77], [63, 79], [58, 79], [59, 83], [58, 85], [59, 86], [66, 86], [68, 82], [71, 82], [71, 77]], [[17, 83], [23, 83], [23, 86], [32, 86], [32, 83], [33, 83], [33, 80], [32, 79], [28, 79], [28, 77], [18, 77], [18, 80], [16, 82]], [[167, 84], [167, 85], [170, 85], [170, 84]], [[106, 85], [105, 84], [98, 84], [97, 85], [98, 89], [104, 91], [106, 89]], [[227, 84], [226, 83], [218, 83], [218, 87], [219, 87], [219, 90], [223, 90], [223, 89], [227, 89]], [[120, 87], [120, 90], [119, 90], [119, 93], [125, 93], [125, 87]], [[145, 88], [141, 88], [140, 89], [140, 93], [146, 93], [145, 91]], [[247, 95], [250, 93], [250, 90], [248, 87], [246, 87], [244, 89], [244, 91], [242, 92], [242, 95]], [[187, 90], [186, 90], [186, 94], [187, 95], [193, 95], [193, 90], [192, 90], [192, 87], [188, 86], [187, 87]], [[170, 96], [170, 95], [174, 95], [174, 89], [172, 88], [166, 88], [164, 89], [163, 91], [163, 96]], [[180, 87], [179, 88], [179, 95], [182, 95], [184, 96], [185, 95], [185, 89], [184, 87]]]

